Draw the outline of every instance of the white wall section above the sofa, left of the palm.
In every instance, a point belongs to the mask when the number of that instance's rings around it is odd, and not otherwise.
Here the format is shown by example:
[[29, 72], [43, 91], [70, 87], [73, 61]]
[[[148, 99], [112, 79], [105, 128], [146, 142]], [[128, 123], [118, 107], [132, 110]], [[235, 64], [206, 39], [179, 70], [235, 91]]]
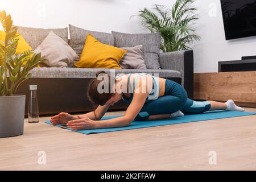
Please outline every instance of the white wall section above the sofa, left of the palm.
[[[172, 0], [171, 0], [172, 1]], [[147, 32], [137, 18], [143, 7], [167, 0], [1, 0], [0, 8], [18, 26], [61, 28], [68, 24], [94, 31]]]

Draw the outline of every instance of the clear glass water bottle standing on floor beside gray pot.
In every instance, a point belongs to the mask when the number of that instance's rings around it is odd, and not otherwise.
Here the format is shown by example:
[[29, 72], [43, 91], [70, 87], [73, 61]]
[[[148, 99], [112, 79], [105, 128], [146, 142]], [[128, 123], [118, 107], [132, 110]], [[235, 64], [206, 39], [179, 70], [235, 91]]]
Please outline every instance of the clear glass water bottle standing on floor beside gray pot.
[[37, 85], [30, 85], [30, 98], [28, 101], [28, 122], [39, 122], [38, 97], [36, 95]]

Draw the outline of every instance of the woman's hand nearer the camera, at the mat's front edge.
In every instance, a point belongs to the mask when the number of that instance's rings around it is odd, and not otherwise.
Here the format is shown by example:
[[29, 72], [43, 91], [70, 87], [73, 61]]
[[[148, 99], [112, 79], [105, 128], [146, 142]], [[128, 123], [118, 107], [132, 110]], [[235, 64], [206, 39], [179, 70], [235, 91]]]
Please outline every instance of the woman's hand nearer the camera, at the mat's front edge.
[[68, 127], [71, 127], [72, 130], [90, 130], [96, 129], [96, 121], [89, 119], [88, 117], [75, 119], [73, 121], [68, 122]]

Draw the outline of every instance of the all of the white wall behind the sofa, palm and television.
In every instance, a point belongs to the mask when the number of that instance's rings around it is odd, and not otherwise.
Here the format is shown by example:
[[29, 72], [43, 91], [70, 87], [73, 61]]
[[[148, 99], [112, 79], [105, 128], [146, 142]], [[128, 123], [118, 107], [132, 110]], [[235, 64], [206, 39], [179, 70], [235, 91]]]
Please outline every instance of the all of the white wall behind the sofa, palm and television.
[[[137, 18], [143, 7], [172, 5], [175, 0], [1, 0], [1, 10], [18, 26], [62, 28], [68, 24], [94, 31], [148, 32]], [[195, 73], [217, 72], [218, 61], [256, 55], [256, 37], [225, 40], [220, 0], [197, 0], [201, 41], [192, 45]]]

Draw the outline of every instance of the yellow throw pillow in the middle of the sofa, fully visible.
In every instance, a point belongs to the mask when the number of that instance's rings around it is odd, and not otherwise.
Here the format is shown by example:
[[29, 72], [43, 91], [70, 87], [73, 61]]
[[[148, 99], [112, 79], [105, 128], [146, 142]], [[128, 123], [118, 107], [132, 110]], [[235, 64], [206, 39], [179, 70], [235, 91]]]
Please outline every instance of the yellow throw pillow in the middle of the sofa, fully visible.
[[127, 51], [102, 44], [88, 34], [80, 60], [75, 63], [79, 68], [114, 68], [122, 69], [118, 63]]

